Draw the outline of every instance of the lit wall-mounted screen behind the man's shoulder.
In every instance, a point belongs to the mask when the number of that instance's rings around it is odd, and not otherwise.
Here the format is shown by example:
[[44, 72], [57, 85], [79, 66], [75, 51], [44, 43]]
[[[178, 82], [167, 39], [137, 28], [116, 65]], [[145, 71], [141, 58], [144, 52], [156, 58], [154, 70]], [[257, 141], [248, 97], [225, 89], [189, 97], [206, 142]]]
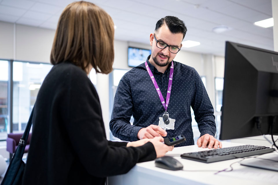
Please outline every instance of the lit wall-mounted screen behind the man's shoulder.
[[135, 67], [147, 60], [147, 57], [151, 54], [150, 49], [140, 49], [129, 47], [127, 63], [130, 67]]

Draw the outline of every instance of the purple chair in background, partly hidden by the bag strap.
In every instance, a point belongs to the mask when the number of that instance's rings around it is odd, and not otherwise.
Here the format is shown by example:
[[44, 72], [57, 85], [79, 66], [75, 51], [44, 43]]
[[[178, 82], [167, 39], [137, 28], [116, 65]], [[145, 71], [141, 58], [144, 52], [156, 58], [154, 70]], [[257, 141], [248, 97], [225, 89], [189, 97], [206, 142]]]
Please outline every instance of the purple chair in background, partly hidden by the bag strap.
[[[7, 138], [6, 141], [7, 141], [7, 151], [10, 152], [10, 160], [12, 159], [13, 153], [17, 149], [17, 146], [19, 144], [19, 140], [22, 137], [22, 135], [23, 135], [23, 133], [10, 133], [10, 134], [8, 134], [8, 138]], [[28, 150], [29, 150], [31, 136], [32, 136], [32, 133], [29, 133], [24, 153], [27, 153]]]

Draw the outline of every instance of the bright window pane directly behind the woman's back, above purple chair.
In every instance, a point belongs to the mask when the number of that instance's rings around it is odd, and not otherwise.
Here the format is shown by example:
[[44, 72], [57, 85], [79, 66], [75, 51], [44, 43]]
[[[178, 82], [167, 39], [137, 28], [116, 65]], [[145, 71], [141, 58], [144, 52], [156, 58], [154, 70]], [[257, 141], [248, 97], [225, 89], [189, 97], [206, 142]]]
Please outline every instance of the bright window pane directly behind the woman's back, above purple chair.
[[41, 84], [51, 64], [13, 62], [13, 132], [24, 132]]

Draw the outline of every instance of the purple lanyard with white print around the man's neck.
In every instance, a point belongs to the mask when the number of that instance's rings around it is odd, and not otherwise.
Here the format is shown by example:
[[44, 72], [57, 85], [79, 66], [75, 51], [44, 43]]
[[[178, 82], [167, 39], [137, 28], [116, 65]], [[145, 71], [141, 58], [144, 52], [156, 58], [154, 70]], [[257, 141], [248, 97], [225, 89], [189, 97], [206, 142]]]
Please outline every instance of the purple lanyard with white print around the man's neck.
[[165, 101], [163, 99], [163, 96], [161, 94], [161, 91], [157, 85], [157, 82], [156, 82], [156, 79], [154, 78], [153, 76], [153, 73], [151, 72], [149, 66], [148, 66], [148, 63], [147, 61], [145, 62], [145, 66], [146, 66], [146, 69], [151, 77], [151, 80], [153, 81], [153, 85], [155, 86], [156, 88], [156, 91], [158, 93], [158, 96], [160, 98], [160, 101], [165, 109], [165, 112], [167, 111], [167, 107], [168, 107], [168, 104], [169, 104], [169, 100], [170, 100], [170, 95], [171, 95], [171, 88], [172, 88], [172, 82], [173, 82], [173, 73], [174, 73], [174, 64], [173, 64], [173, 61], [172, 61], [172, 64], [171, 64], [171, 68], [170, 68], [170, 76], [169, 76], [169, 82], [168, 82], [168, 90], [167, 90], [167, 96], [166, 96], [166, 105], [165, 105]]

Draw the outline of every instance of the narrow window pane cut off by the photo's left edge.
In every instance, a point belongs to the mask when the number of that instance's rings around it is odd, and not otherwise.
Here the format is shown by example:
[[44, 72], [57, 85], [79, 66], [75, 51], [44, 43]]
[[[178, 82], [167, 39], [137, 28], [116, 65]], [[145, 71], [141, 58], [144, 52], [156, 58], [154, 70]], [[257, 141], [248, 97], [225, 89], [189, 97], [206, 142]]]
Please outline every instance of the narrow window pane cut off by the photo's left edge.
[[0, 60], [0, 140], [7, 138], [8, 65], [7, 60]]

